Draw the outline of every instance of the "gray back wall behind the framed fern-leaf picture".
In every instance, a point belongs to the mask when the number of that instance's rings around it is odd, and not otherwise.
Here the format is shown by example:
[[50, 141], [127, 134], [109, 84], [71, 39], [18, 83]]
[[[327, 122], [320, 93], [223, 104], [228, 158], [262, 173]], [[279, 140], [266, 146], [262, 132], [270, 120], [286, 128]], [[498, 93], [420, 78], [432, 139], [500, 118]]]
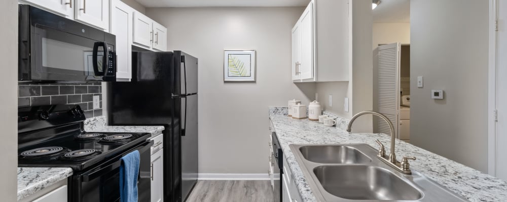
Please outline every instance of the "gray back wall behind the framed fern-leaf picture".
[[[199, 173], [268, 171], [268, 106], [314, 99], [291, 78], [291, 29], [303, 8], [148, 8], [169, 50], [199, 58]], [[224, 49], [257, 50], [257, 82], [224, 83]]]

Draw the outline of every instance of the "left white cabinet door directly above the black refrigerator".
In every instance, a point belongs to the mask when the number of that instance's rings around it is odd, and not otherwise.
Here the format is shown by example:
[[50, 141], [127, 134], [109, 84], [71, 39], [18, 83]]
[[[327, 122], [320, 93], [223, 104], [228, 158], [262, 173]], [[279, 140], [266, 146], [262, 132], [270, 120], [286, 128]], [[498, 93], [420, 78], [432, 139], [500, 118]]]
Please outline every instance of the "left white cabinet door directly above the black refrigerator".
[[153, 20], [139, 12], [134, 12], [134, 38], [132, 41], [145, 48], [152, 47]]

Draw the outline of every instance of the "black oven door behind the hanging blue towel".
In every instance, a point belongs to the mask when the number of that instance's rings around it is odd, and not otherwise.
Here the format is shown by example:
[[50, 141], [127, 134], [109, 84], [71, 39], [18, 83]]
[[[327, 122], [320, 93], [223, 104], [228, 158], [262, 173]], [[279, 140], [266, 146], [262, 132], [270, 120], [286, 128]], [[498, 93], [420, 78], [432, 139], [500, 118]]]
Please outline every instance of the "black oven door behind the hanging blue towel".
[[134, 150], [138, 150], [140, 155], [137, 178], [138, 201], [151, 201], [150, 147], [152, 145], [153, 141], [143, 142], [96, 168], [73, 175], [69, 190], [70, 201], [120, 201], [120, 159]]

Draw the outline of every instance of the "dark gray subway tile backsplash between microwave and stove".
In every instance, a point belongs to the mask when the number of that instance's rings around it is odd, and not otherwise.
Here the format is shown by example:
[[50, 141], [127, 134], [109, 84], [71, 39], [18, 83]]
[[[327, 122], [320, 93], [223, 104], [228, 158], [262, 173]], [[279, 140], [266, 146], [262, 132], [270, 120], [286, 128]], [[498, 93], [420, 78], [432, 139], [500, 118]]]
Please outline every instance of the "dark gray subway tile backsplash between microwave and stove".
[[[18, 84], [18, 107], [73, 104], [85, 111], [86, 118], [102, 115], [100, 82], [84, 84]], [[93, 109], [93, 96], [99, 95], [100, 108]]]

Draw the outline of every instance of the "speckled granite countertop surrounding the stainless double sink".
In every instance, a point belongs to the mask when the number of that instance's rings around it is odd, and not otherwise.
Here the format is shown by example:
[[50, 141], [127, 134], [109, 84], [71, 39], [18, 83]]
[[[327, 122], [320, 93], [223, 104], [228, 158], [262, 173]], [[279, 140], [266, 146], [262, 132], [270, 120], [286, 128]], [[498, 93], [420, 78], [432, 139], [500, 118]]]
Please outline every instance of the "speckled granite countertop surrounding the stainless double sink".
[[[283, 156], [294, 175], [304, 201], [316, 201], [289, 144], [367, 143], [377, 148], [376, 139], [388, 145], [390, 136], [384, 134], [349, 134], [337, 127], [326, 127], [308, 119], [286, 116], [286, 108], [270, 108], [269, 118], [281, 144]], [[410, 162], [413, 171], [430, 178], [470, 201], [507, 201], [507, 182], [469, 168], [425, 149], [396, 139], [398, 156], [417, 157]]]

